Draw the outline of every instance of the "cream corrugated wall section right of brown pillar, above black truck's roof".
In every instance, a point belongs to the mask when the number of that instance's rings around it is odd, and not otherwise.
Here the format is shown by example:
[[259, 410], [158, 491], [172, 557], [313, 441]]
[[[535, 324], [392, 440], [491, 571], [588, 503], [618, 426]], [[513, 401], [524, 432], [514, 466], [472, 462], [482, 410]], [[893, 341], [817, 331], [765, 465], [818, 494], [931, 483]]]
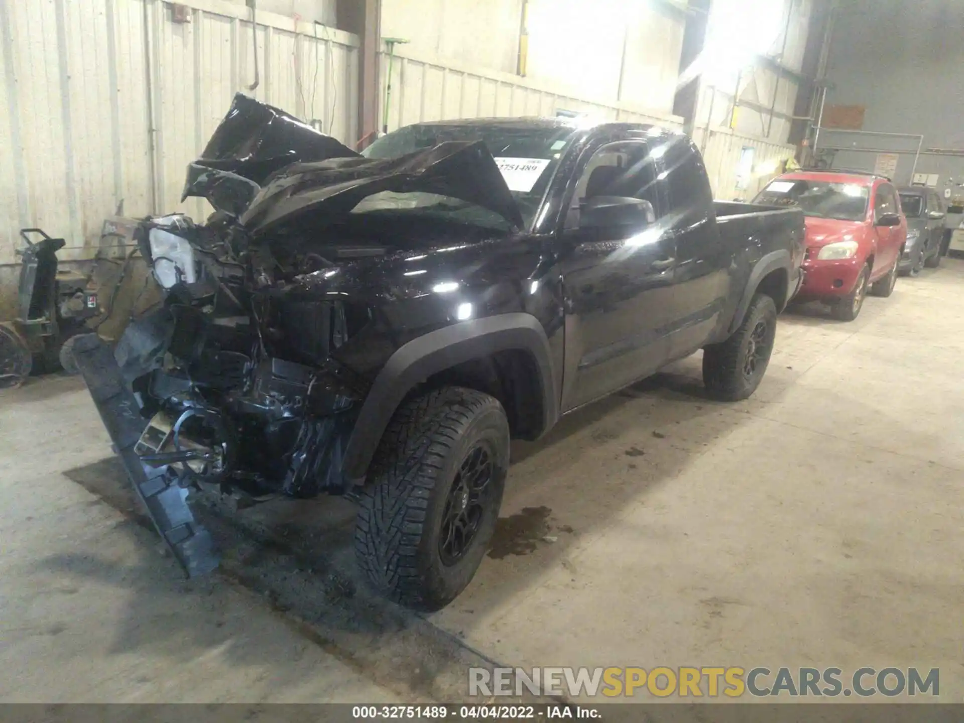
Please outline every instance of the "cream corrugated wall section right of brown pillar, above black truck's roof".
[[[379, 124], [385, 118], [388, 55], [381, 56], [382, 87]], [[536, 83], [518, 75], [459, 67], [426, 58], [404, 45], [392, 60], [388, 130], [422, 120], [554, 116], [557, 110], [576, 111], [605, 120], [652, 122], [679, 128], [683, 119], [638, 108], [628, 103], [606, 103], [576, 97], [564, 89]]]

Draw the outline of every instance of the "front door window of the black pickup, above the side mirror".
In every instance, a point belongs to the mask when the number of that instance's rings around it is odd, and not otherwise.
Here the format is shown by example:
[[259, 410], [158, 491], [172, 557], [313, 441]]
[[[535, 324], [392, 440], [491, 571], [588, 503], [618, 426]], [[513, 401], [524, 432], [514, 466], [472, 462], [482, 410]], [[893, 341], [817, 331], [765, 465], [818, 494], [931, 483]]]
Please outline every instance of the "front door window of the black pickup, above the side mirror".
[[579, 208], [594, 196], [622, 196], [650, 201], [660, 215], [656, 194], [656, 163], [642, 141], [622, 141], [599, 148], [576, 182], [566, 215], [566, 228], [576, 228]]

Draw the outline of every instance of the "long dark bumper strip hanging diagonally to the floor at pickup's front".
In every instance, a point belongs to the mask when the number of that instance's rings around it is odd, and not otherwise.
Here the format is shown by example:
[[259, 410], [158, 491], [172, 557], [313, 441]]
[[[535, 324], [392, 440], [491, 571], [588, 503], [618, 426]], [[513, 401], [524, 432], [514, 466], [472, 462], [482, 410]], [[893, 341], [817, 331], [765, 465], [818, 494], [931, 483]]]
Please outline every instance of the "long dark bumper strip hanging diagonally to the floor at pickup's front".
[[188, 577], [210, 573], [218, 566], [218, 555], [211, 534], [195, 520], [187, 504], [188, 491], [171, 478], [166, 466], [149, 467], [134, 451], [147, 419], [133, 392], [124, 386], [113, 350], [97, 335], [88, 334], [77, 337], [72, 351], [150, 522]]

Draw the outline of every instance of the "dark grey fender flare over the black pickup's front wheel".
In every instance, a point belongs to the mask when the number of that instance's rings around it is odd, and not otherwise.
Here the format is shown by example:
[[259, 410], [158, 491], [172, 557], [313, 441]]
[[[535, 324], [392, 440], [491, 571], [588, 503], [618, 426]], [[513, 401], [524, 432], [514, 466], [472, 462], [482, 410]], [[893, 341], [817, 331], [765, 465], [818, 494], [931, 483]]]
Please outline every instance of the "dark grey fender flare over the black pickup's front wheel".
[[399, 347], [375, 378], [345, 449], [347, 481], [361, 484], [391, 415], [417, 384], [462, 362], [494, 352], [520, 349], [536, 362], [545, 433], [558, 418], [558, 391], [549, 339], [535, 316], [516, 312], [464, 321], [418, 336]]

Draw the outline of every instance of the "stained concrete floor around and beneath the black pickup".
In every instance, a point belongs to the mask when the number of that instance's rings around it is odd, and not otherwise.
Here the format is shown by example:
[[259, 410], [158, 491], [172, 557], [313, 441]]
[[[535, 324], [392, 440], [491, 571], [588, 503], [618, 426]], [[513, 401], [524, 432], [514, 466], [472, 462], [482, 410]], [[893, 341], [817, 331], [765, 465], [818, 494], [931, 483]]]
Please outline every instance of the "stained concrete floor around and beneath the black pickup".
[[[945, 259], [856, 322], [785, 315], [746, 402], [703, 398], [696, 356], [516, 446], [489, 558], [421, 624], [526, 667], [916, 665], [964, 699], [962, 288]], [[333, 656], [223, 577], [180, 580], [76, 484], [108, 453], [76, 380], [0, 398], [0, 439], [0, 700], [419, 697], [371, 682], [378, 637]], [[241, 517], [331, 522], [348, 571], [350, 507], [315, 504]]]

